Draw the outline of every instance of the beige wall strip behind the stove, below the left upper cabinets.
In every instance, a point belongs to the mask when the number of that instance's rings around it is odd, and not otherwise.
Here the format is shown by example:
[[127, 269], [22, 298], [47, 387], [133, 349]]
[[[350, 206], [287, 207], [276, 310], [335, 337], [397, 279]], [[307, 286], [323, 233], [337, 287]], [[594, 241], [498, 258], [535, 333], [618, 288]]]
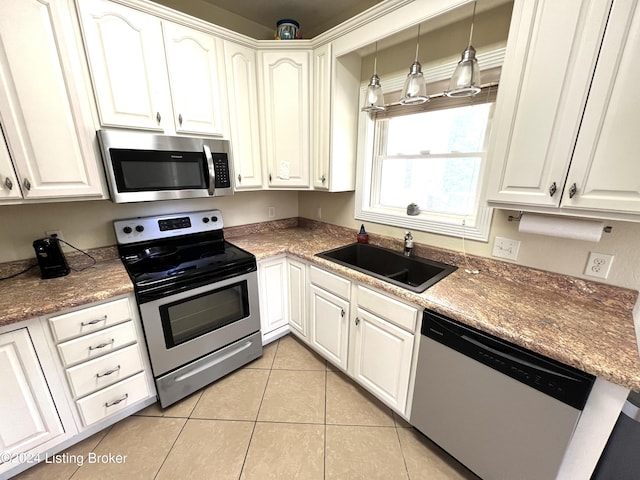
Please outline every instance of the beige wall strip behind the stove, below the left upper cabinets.
[[115, 245], [113, 221], [147, 215], [218, 208], [225, 226], [298, 216], [298, 192], [237, 192], [214, 199], [114, 204], [110, 201], [38, 203], [0, 206], [0, 263], [35, 258], [32, 243], [48, 230], [61, 230], [80, 249]]

